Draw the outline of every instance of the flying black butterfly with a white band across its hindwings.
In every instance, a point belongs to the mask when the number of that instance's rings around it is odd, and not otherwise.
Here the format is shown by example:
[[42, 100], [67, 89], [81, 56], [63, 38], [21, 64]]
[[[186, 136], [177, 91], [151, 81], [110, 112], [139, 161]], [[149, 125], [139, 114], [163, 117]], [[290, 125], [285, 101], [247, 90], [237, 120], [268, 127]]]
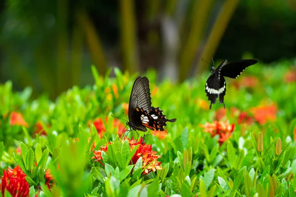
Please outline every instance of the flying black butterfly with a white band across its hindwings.
[[226, 93], [226, 81], [224, 77], [237, 78], [248, 66], [255, 65], [257, 60], [239, 60], [231, 62], [226, 65], [227, 60], [224, 60], [221, 65], [216, 69], [212, 67], [212, 74], [206, 83], [206, 94], [208, 99], [211, 101], [210, 109], [212, 104], [216, 103], [216, 99], [219, 97], [219, 103], [224, 104], [224, 96]]

